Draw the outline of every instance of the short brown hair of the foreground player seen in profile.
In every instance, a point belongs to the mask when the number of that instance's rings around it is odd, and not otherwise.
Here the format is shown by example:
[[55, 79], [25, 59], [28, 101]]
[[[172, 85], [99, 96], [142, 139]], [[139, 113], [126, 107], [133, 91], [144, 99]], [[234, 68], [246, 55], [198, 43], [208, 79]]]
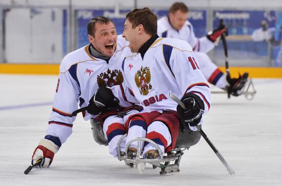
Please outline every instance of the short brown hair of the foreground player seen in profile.
[[157, 34], [157, 16], [147, 7], [135, 8], [126, 14], [126, 19], [132, 23], [132, 28], [143, 25], [145, 32], [150, 35]]

